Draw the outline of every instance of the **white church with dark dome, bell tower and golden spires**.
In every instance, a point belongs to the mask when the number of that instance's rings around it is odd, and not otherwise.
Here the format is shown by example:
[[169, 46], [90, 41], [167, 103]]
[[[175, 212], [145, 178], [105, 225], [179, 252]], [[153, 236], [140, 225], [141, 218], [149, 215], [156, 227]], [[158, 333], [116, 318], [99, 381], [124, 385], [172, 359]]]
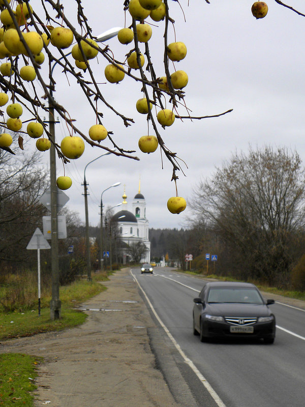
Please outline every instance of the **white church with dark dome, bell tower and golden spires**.
[[[148, 228], [149, 222], [146, 219], [146, 201], [141, 194], [140, 182], [139, 191], [135, 195], [132, 201], [132, 211], [128, 211], [127, 195], [124, 188], [122, 210], [113, 215], [112, 220], [117, 221], [119, 237], [124, 246], [127, 247], [137, 243], [143, 242], [147, 248], [146, 253], [141, 258], [141, 263], [150, 262], [150, 242], [148, 240]], [[128, 253], [124, 248], [123, 251], [123, 263], [126, 264]]]

